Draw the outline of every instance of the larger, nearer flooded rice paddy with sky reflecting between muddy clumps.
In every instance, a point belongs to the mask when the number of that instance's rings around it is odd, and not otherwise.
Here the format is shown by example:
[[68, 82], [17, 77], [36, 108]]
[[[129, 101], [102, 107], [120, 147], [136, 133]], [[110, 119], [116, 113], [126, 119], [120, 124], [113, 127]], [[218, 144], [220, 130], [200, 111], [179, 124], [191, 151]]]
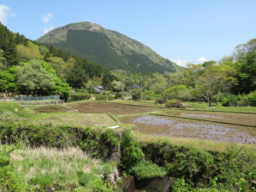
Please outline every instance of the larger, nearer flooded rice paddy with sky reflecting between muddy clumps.
[[137, 131], [154, 136], [256, 144], [256, 128], [251, 127], [152, 115], [125, 116], [119, 120], [122, 123], [136, 124]]

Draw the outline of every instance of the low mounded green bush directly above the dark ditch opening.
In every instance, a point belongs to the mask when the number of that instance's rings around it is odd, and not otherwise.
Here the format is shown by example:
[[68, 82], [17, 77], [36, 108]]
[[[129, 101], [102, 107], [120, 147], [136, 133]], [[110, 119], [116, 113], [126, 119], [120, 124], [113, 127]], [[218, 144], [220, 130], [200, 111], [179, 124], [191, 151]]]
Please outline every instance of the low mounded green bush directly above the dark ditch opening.
[[137, 180], [165, 177], [166, 168], [160, 167], [150, 160], [140, 161], [136, 166], [131, 168], [130, 174], [137, 177]]

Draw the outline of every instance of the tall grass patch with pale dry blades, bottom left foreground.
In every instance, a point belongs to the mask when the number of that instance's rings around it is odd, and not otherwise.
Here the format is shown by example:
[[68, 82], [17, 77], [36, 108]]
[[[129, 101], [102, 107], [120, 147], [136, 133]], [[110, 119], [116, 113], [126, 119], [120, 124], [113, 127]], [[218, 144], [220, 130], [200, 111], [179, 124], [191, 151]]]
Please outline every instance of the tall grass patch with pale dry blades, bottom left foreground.
[[[13, 147], [0, 145], [0, 154], [6, 155], [10, 148]], [[49, 188], [55, 186], [58, 191], [73, 191], [71, 188], [86, 191], [79, 185], [79, 175], [91, 172], [95, 175], [107, 174], [108, 177], [116, 166], [113, 162], [90, 159], [81, 149], [71, 147], [60, 150], [23, 147], [15, 149], [10, 158], [21, 191], [37, 189], [39, 185]]]

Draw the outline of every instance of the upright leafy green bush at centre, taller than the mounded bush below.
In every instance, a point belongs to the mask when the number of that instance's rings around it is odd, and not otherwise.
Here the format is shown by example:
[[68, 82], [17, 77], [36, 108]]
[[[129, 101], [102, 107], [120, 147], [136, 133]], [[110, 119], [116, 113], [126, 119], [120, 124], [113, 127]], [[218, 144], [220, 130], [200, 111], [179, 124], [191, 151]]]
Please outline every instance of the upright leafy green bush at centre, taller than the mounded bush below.
[[139, 143], [131, 137], [131, 132], [125, 131], [121, 141], [121, 166], [124, 172], [130, 172], [131, 167], [135, 166], [139, 160], [142, 160], [143, 155]]

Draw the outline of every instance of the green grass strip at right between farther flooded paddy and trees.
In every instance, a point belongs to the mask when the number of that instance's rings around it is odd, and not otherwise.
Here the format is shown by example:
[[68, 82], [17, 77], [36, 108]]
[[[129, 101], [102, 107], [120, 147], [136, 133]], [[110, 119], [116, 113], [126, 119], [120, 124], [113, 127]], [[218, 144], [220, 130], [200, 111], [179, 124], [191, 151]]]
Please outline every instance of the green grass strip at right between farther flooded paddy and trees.
[[[214, 103], [215, 104], [215, 103]], [[184, 107], [189, 109], [199, 109], [204, 110], [206, 108], [209, 108], [209, 104], [207, 102], [203, 102], [202, 104], [199, 104], [199, 102], [183, 102]], [[215, 111], [230, 111], [230, 112], [246, 112], [246, 113], [256, 113], [256, 107], [223, 107], [221, 103], [218, 103], [218, 105], [215, 107]], [[208, 109], [207, 111], [211, 111], [211, 109]]]

